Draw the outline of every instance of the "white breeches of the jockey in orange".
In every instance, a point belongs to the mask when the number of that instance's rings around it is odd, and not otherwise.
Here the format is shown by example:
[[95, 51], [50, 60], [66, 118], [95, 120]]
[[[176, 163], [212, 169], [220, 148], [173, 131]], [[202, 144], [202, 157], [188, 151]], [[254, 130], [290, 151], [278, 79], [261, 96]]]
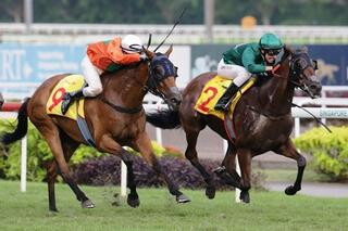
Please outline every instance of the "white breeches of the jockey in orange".
[[101, 69], [91, 64], [88, 55], [85, 55], [82, 63], [82, 69], [88, 87], [84, 88], [83, 93], [85, 97], [96, 97], [101, 93], [102, 85], [100, 80]]

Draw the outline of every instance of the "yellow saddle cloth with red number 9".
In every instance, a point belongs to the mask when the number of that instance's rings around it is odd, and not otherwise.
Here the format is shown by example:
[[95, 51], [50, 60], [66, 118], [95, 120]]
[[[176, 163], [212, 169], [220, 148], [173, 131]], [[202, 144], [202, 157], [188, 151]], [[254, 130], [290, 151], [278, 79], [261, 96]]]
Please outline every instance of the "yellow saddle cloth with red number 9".
[[69, 107], [65, 115], [63, 115], [61, 111], [64, 93], [71, 92], [71, 91], [77, 91], [82, 89], [84, 84], [85, 84], [85, 79], [80, 75], [70, 75], [61, 79], [58, 82], [58, 85], [54, 87], [53, 91], [51, 92], [51, 95], [48, 99], [48, 102], [46, 104], [47, 114], [59, 115], [59, 116], [74, 119], [74, 120], [77, 119], [77, 115], [85, 118], [85, 113], [84, 113], [85, 100], [84, 99], [75, 101]]

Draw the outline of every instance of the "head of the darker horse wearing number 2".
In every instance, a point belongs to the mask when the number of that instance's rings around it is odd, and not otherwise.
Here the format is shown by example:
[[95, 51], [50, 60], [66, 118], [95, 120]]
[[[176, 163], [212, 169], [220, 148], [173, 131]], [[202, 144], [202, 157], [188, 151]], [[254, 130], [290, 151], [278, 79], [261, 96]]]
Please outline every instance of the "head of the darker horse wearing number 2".
[[316, 62], [309, 57], [307, 49], [297, 50], [290, 59], [290, 82], [311, 98], [321, 97], [322, 85], [315, 75]]

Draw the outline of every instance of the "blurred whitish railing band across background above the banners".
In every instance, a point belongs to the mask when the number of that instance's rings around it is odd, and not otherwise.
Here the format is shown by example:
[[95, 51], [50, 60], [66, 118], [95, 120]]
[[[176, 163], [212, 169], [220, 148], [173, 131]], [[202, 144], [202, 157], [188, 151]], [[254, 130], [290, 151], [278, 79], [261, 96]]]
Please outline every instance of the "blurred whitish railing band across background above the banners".
[[[41, 24], [28, 28], [24, 23], [0, 23], [0, 41], [5, 42], [60, 42], [86, 43], [115, 35], [135, 34], [146, 39], [153, 35], [159, 43], [173, 25], [149, 24]], [[285, 42], [297, 44], [348, 43], [348, 26], [262, 26], [243, 28], [240, 25], [214, 25], [214, 43], [238, 43], [254, 41], [261, 35], [273, 31]], [[170, 39], [176, 44], [208, 43], [204, 25], [178, 25]]]

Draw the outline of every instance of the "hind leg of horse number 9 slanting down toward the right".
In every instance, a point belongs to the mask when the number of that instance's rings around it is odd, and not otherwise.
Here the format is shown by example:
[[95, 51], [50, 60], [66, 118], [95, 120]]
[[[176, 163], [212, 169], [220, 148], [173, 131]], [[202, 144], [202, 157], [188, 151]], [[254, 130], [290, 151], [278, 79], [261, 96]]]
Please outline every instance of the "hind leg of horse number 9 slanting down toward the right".
[[64, 157], [58, 127], [48, 119], [46, 119], [45, 121], [34, 121], [34, 124], [36, 125], [38, 130], [41, 132], [42, 137], [46, 139], [48, 145], [50, 146], [63, 180], [73, 190], [77, 200], [82, 202], [82, 206], [85, 208], [95, 207], [95, 205], [88, 200], [85, 193], [77, 187], [76, 182], [73, 180], [70, 174], [70, 169]]

